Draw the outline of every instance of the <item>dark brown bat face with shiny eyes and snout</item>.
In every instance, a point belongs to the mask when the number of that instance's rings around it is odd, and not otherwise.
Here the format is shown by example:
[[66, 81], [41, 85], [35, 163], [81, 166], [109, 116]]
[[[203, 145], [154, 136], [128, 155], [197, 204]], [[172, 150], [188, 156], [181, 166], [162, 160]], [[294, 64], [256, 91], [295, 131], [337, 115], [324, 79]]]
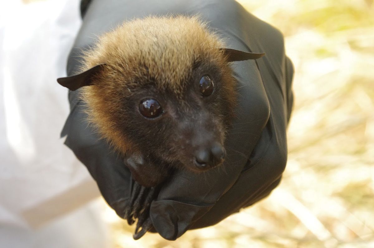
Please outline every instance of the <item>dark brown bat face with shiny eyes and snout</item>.
[[212, 62], [195, 63], [178, 96], [149, 81], [142, 88], [123, 89], [132, 94], [123, 98], [126, 118], [118, 128], [154, 160], [197, 171], [221, 164], [234, 94], [227, 70]]

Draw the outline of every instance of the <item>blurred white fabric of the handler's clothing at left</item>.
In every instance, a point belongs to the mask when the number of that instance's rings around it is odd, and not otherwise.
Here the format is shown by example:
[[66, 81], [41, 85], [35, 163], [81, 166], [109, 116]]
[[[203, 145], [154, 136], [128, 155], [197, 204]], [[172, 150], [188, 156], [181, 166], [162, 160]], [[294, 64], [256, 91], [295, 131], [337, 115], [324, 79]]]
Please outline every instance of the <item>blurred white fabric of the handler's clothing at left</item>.
[[105, 247], [97, 210], [71, 213], [99, 191], [59, 138], [68, 101], [56, 78], [79, 26], [79, 0], [0, 0], [0, 247]]

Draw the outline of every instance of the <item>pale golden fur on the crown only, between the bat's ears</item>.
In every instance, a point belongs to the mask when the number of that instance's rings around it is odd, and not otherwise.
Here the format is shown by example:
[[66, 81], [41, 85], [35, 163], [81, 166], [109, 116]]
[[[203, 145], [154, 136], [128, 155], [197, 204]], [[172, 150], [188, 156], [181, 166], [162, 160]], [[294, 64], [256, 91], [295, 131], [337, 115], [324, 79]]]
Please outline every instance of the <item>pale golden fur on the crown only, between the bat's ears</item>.
[[[108, 63], [116, 77], [148, 74], [159, 89], [178, 94], [193, 62], [222, 56], [220, 47], [219, 39], [197, 17], [148, 17], [125, 22], [99, 37], [85, 54], [84, 69]], [[137, 83], [126, 79], [126, 84]]]

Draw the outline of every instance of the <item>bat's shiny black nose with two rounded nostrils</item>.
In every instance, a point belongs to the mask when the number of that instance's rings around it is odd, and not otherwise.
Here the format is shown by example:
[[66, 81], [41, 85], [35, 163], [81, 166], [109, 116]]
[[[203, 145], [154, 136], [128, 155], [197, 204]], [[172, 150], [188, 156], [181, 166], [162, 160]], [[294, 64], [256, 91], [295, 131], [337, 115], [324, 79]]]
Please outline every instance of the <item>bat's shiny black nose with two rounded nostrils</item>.
[[195, 154], [194, 164], [199, 170], [206, 170], [220, 164], [226, 156], [226, 149], [218, 142], [200, 148]]

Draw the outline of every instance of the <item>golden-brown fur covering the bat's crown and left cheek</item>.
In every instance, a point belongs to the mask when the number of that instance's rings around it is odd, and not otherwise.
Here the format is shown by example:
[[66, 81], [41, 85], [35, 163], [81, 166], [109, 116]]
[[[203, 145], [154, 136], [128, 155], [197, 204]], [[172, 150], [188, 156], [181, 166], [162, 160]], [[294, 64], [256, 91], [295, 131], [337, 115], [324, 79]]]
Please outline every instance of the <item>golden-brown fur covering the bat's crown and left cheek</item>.
[[194, 63], [207, 61], [228, 70], [221, 47], [219, 38], [196, 17], [137, 19], [102, 35], [95, 47], [85, 52], [82, 68], [107, 64], [93, 85], [82, 89], [92, 122], [119, 151], [132, 149], [116, 123], [123, 118], [116, 113], [121, 99], [147, 82], [159, 92], [181, 97]]

